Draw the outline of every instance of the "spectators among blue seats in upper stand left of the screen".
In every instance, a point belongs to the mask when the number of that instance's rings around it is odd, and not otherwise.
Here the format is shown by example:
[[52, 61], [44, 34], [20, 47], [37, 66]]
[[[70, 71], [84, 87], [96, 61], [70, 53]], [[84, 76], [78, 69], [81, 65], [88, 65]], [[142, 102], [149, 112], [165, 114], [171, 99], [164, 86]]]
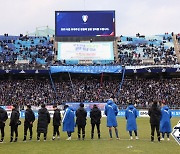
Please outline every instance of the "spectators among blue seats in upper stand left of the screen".
[[0, 36], [0, 67], [46, 68], [54, 59], [53, 40], [49, 37]]

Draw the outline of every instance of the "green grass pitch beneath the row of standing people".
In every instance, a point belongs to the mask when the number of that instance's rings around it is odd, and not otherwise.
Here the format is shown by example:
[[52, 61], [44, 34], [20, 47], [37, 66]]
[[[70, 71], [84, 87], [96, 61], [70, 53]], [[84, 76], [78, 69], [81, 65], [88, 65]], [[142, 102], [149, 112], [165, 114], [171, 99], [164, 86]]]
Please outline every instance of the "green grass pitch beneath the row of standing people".
[[[179, 118], [172, 119], [172, 126], [177, 124]], [[8, 126], [9, 121], [6, 122], [5, 130], [5, 143], [0, 144], [0, 154], [9, 153], [23, 153], [23, 154], [54, 154], [54, 153], [65, 153], [65, 154], [113, 154], [113, 153], [180, 153], [180, 146], [171, 137], [171, 140], [163, 141], [161, 143], [150, 142], [150, 125], [149, 118], [138, 118], [138, 134], [139, 140], [129, 140], [129, 135], [126, 132], [126, 121], [124, 118], [118, 118], [118, 129], [120, 140], [116, 140], [113, 131], [113, 140], [109, 140], [108, 129], [106, 127], [106, 118], [102, 119], [101, 124], [101, 139], [97, 139], [95, 134], [95, 139], [90, 139], [90, 122], [87, 120], [86, 127], [86, 140], [77, 140], [77, 129], [72, 135], [71, 141], [66, 141], [67, 135], [65, 132], [61, 131], [61, 139], [51, 141], [52, 138], [52, 123], [49, 125], [48, 138], [47, 141], [43, 141], [43, 136], [41, 136], [41, 141], [36, 141], [36, 122], [34, 123], [34, 135], [32, 141], [22, 142], [23, 139], [23, 125], [19, 127], [19, 138], [17, 143], [9, 143], [9, 132], [10, 128]], [[62, 128], [60, 128], [62, 130]], [[29, 134], [28, 134], [29, 135]]]

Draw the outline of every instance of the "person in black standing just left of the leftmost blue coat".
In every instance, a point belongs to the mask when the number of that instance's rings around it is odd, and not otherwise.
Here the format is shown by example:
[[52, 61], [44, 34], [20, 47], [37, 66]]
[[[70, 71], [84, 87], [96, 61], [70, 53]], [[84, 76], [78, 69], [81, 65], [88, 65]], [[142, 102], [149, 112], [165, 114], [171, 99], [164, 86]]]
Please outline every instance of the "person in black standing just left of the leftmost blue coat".
[[55, 136], [57, 134], [57, 138], [60, 138], [59, 126], [61, 125], [61, 113], [57, 108], [57, 105], [53, 105], [54, 114], [53, 114], [53, 137], [52, 140], [55, 140]]

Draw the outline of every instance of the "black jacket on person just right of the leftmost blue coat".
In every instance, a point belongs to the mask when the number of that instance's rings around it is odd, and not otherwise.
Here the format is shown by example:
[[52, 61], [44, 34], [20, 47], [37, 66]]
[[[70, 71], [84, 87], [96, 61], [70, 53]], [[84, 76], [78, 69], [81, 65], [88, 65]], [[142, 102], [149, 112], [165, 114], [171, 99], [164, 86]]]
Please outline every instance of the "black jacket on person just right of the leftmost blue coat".
[[83, 107], [80, 107], [76, 111], [76, 124], [80, 126], [86, 125], [87, 112]]

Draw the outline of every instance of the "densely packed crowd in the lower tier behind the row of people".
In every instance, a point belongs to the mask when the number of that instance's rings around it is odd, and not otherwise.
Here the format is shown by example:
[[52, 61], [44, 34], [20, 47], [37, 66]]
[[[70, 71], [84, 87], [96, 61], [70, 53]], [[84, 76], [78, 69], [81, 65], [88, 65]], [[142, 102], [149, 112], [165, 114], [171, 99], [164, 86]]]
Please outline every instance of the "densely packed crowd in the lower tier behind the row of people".
[[165, 101], [171, 108], [180, 108], [179, 79], [125, 79], [119, 89], [120, 79], [95, 77], [73, 77], [49, 79], [1, 80], [0, 104], [19, 105], [65, 102], [106, 102], [110, 97], [119, 108], [133, 102], [138, 108], [148, 108], [152, 100]]

